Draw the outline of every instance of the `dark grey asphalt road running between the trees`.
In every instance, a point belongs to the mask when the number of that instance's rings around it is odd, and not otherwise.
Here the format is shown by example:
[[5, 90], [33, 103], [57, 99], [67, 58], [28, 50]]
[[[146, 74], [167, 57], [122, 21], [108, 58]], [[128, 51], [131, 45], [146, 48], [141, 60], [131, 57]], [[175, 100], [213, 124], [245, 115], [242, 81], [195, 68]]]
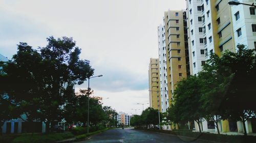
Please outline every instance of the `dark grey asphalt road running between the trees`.
[[[87, 140], [80, 141], [79, 143], [122, 143], [122, 142], [173, 142], [173, 143], [183, 143], [183, 142], [191, 142], [191, 138], [180, 138], [176, 135], [163, 134], [157, 132], [149, 132], [149, 131], [141, 131], [134, 130], [132, 128], [125, 129], [113, 129], [107, 130], [103, 133], [94, 135]], [[78, 142], [77, 142], [78, 143]], [[193, 141], [193, 143], [206, 143], [203, 141]]]

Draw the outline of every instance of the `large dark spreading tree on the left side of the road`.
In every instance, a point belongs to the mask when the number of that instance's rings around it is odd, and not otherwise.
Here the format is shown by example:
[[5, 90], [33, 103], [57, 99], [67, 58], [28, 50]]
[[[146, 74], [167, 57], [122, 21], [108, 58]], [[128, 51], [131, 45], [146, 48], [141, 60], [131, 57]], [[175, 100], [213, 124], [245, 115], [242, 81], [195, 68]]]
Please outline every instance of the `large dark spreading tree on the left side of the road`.
[[72, 38], [49, 37], [47, 41], [38, 51], [20, 43], [3, 70], [12, 86], [7, 94], [27, 115], [24, 120], [43, 121], [49, 132], [50, 123], [62, 119], [65, 103], [73, 96], [67, 87], [83, 83], [94, 69], [89, 61], [79, 59], [81, 50]]

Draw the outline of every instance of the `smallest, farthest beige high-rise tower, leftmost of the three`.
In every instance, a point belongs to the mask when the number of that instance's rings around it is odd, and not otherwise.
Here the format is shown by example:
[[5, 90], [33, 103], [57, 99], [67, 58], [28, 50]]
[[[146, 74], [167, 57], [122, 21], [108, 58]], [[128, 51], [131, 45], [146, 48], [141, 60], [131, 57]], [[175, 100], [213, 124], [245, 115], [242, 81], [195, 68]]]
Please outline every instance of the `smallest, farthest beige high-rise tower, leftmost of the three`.
[[159, 92], [159, 60], [151, 58], [148, 68], [148, 89], [150, 93], [150, 107], [161, 110], [161, 97]]

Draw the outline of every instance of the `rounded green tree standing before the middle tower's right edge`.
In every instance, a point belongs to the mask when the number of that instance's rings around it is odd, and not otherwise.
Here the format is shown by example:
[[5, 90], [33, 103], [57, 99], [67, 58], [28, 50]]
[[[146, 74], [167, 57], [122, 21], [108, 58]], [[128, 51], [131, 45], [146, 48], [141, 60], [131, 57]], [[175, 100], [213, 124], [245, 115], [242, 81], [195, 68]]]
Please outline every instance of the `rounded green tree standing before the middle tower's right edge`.
[[196, 121], [201, 132], [200, 122], [205, 111], [200, 106], [202, 84], [197, 76], [189, 76], [177, 83], [173, 105], [168, 109], [169, 119], [175, 123]]

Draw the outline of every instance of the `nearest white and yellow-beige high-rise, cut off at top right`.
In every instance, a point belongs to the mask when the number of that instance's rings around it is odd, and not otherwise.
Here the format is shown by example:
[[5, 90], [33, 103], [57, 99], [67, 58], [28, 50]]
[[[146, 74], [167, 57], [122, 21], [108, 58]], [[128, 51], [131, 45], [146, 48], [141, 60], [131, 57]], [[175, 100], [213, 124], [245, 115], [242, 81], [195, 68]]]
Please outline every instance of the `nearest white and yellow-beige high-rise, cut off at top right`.
[[[250, 5], [255, 3], [253, 0], [240, 2]], [[221, 56], [225, 50], [236, 52], [238, 44], [255, 48], [254, 7], [229, 6], [228, 0], [186, 0], [186, 4], [191, 74], [196, 75], [202, 71], [202, 66], [209, 59], [210, 53]], [[242, 122], [225, 120], [218, 124], [222, 132], [243, 132]], [[247, 132], [252, 132], [250, 121], [246, 124]], [[201, 126], [203, 131], [217, 131], [211, 121], [203, 121]], [[198, 130], [198, 127], [195, 126], [195, 129]]]

